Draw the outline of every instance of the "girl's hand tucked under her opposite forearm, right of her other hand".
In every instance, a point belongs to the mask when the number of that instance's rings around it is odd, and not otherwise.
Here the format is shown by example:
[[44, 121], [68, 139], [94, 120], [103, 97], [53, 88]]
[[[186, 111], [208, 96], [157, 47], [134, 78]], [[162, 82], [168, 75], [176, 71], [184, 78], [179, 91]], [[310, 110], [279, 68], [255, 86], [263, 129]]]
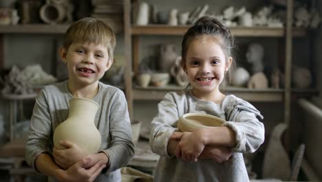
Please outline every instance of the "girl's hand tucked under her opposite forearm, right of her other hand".
[[206, 145], [206, 148], [204, 148], [204, 151], [202, 151], [198, 159], [213, 159], [217, 163], [222, 163], [227, 161], [232, 154], [231, 148]]

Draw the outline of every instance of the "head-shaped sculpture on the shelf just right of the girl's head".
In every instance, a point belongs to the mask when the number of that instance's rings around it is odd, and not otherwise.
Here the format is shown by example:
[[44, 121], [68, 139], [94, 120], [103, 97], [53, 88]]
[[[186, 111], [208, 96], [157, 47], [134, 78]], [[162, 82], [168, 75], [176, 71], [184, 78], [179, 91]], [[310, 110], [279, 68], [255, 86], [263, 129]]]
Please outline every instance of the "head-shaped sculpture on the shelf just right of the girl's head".
[[264, 71], [264, 48], [259, 43], [251, 43], [248, 45], [246, 52], [246, 59], [248, 63], [252, 64], [252, 73]]

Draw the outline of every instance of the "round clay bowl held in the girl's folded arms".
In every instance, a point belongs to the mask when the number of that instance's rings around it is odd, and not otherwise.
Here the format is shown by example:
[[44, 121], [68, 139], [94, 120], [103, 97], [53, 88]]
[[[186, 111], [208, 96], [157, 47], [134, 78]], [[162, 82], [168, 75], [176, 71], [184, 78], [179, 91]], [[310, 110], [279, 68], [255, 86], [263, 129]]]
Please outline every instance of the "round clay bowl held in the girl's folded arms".
[[178, 120], [178, 129], [180, 132], [194, 132], [201, 128], [218, 127], [224, 122], [224, 119], [210, 114], [187, 113]]

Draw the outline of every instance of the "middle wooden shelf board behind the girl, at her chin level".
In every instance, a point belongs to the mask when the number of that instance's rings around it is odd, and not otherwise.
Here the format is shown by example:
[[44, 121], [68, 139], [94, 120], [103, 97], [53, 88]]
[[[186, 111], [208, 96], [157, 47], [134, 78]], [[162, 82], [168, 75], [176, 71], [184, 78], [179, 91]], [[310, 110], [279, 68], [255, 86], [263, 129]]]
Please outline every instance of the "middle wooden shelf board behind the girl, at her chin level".
[[[133, 99], [134, 100], [162, 100], [164, 95], [171, 91], [184, 90], [182, 87], [175, 85], [167, 85], [164, 88], [157, 87], [135, 87], [133, 88]], [[259, 102], [281, 102], [284, 99], [283, 89], [248, 89], [248, 88], [226, 88], [224, 94], [234, 94], [236, 97], [240, 97], [246, 101], [259, 101]], [[310, 97], [312, 95], [319, 94], [317, 90], [292, 90], [292, 97]]]

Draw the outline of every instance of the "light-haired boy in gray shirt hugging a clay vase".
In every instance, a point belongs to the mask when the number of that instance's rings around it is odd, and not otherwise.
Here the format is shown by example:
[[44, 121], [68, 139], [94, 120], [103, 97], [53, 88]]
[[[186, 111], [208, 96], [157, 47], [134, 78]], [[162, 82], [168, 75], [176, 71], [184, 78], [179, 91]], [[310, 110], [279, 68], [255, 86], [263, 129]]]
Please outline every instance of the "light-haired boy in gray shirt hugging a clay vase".
[[[26, 143], [26, 161], [49, 181], [120, 181], [120, 170], [134, 153], [125, 95], [98, 81], [113, 63], [114, 32], [102, 21], [85, 18], [72, 23], [65, 34], [60, 55], [67, 65], [67, 81], [47, 85], [39, 92]], [[74, 97], [92, 99], [100, 105], [95, 123], [102, 143], [97, 154], [85, 155], [76, 144], [53, 145], [56, 127], [68, 117]], [[77, 128], [75, 128], [77, 130]]]

